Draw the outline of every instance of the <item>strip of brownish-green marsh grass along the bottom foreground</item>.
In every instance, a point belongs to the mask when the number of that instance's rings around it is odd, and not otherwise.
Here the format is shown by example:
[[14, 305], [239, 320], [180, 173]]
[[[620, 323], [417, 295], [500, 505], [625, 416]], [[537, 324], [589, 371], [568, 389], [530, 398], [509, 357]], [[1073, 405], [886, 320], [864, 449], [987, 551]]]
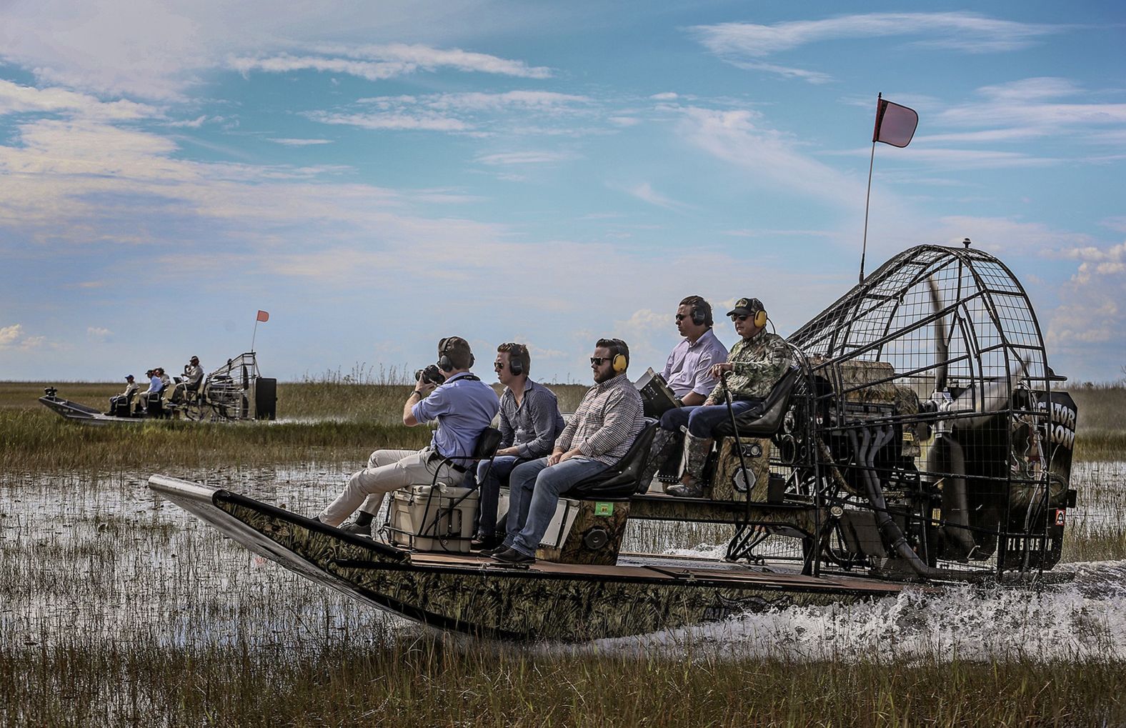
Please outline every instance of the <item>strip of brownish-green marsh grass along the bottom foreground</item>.
[[[153, 646], [155, 647], [155, 646]], [[9, 725], [1118, 725], [1123, 665], [803, 664], [466, 653], [440, 638], [274, 659], [81, 640], [0, 662]], [[36, 675], [34, 689], [25, 680]], [[116, 680], [109, 684], [107, 676]]]

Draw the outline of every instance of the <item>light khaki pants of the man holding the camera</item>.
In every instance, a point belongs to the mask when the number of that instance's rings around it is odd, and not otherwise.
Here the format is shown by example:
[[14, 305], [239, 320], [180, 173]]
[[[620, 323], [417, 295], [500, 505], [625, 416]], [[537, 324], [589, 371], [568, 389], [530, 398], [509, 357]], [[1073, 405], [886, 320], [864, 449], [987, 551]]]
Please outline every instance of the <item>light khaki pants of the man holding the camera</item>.
[[[321, 521], [329, 525], [340, 525], [357, 507], [375, 515], [383, 505], [383, 495], [412, 485], [457, 485], [465, 477], [447, 462], [430, 456], [430, 448], [423, 450], [376, 450], [367, 460], [367, 467], [348, 478], [348, 485], [337, 500], [321, 512]], [[435, 480], [435, 474], [438, 478]], [[363, 505], [360, 505], [363, 504]]]

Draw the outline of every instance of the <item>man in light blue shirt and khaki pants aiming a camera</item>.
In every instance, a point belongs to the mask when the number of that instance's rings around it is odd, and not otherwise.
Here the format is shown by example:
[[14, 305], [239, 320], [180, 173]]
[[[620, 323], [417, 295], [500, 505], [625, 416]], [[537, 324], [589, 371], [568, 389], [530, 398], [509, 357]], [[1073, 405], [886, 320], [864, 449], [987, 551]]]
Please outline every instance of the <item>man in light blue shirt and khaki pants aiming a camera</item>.
[[356, 521], [343, 530], [370, 534], [384, 493], [431, 483], [459, 485], [472, 465], [470, 457], [477, 438], [492, 423], [498, 408], [497, 393], [470, 372], [472, 366], [467, 341], [461, 336], [439, 341], [438, 368], [446, 380], [437, 386], [420, 372], [403, 405], [403, 424], [409, 428], [438, 421], [430, 444], [421, 450], [376, 450], [367, 467], [348, 478], [343, 492], [316, 520], [340, 525], [360, 507]]

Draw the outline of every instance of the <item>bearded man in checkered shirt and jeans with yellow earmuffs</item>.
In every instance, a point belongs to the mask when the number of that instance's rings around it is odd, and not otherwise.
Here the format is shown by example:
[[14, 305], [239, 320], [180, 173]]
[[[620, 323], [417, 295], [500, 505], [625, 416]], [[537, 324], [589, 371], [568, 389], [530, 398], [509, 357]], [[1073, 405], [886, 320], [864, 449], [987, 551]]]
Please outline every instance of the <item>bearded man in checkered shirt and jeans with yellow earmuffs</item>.
[[506, 564], [531, 564], [560, 495], [620, 460], [642, 431], [641, 395], [626, 378], [629, 348], [599, 339], [590, 368], [591, 387], [546, 458], [518, 465], [509, 479], [508, 536], [491, 556]]

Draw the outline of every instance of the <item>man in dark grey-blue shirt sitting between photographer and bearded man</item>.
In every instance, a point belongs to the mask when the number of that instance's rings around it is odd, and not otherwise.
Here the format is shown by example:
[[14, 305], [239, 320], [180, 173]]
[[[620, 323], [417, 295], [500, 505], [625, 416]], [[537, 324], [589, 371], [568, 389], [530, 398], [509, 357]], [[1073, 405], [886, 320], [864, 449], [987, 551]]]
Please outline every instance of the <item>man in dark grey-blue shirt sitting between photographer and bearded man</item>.
[[528, 378], [530, 367], [531, 356], [524, 344], [497, 347], [493, 368], [504, 385], [500, 396], [501, 441], [492, 464], [482, 462], [477, 468], [481, 507], [474, 548], [490, 549], [504, 538], [503, 532], [497, 533], [501, 486], [508, 483], [517, 465], [551, 455], [555, 438], [564, 428], [555, 393]]

